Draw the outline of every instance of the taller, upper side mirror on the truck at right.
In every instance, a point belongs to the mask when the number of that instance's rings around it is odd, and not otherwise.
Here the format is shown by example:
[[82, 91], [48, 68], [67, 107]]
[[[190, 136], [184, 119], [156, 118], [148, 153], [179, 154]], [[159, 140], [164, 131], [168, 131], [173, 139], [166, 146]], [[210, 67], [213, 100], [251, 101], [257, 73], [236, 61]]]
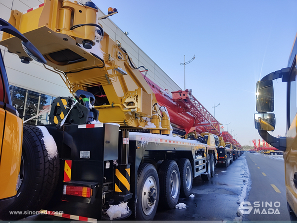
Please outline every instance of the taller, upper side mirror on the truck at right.
[[256, 111], [274, 111], [274, 93], [272, 80], [258, 81], [256, 95]]

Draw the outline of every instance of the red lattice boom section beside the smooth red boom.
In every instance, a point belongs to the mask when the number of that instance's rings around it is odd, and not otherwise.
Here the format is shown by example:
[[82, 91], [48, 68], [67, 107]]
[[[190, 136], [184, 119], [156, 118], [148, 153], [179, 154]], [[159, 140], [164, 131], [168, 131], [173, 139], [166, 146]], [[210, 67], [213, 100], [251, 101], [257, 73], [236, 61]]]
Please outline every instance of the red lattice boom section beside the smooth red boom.
[[183, 111], [190, 112], [195, 117], [195, 123], [192, 128], [187, 129], [187, 133], [194, 131], [198, 126], [203, 126], [206, 132], [221, 136], [220, 123], [198, 102], [191, 90], [174, 91], [172, 99]]

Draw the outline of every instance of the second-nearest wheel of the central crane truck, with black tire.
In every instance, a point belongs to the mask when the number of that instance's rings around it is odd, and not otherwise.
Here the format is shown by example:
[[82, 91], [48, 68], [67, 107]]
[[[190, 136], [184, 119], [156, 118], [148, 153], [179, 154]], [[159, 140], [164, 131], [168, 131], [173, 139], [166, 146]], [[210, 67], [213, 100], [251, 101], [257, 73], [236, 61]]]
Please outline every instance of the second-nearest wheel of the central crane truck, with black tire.
[[173, 160], [164, 160], [158, 171], [160, 177], [160, 206], [173, 209], [178, 202], [181, 177], [178, 165]]

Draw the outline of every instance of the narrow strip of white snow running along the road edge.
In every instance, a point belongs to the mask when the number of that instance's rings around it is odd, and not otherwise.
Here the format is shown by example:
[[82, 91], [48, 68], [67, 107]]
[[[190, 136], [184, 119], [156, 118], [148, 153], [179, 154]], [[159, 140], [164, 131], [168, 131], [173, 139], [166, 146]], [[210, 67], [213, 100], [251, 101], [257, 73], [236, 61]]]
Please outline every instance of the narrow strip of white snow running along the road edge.
[[[241, 170], [243, 171], [243, 187], [242, 187], [242, 191], [241, 194], [238, 196], [238, 201], [237, 203], [240, 205], [243, 201], [245, 201], [245, 199], [247, 198], [247, 191], [250, 190], [250, 173], [248, 170], [248, 166], [247, 166], [247, 160], [246, 160], [246, 156], [243, 157], [244, 159], [242, 159], [242, 165], [241, 165]], [[233, 219], [233, 222], [238, 222], [241, 223], [243, 220], [244, 215], [241, 213], [239, 207], [237, 209], [237, 217], [235, 217]]]

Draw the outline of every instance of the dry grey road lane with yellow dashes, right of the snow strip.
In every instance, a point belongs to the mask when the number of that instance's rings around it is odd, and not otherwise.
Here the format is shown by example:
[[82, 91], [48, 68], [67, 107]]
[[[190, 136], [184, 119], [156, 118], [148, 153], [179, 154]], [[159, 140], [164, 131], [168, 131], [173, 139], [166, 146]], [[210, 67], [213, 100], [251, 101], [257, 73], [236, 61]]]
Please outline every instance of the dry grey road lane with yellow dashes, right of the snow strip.
[[[284, 161], [267, 155], [246, 153], [251, 189], [245, 201], [253, 209], [249, 221], [290, 221], [287, 210]], [[255, 207], [256, 206], [256, 207]]]

